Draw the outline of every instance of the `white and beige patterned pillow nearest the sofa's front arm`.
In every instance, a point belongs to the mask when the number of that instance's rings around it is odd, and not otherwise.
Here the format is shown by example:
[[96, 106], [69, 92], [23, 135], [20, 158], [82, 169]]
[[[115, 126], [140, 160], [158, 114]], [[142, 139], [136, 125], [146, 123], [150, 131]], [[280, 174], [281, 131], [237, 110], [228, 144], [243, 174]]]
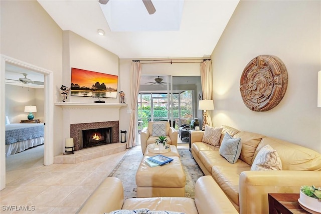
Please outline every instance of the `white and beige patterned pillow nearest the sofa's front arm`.
[[251, 171], [256, 170], [282, 170], [281, 159], [270, 145], [263, 146], [257, 153], [251, 166]]

